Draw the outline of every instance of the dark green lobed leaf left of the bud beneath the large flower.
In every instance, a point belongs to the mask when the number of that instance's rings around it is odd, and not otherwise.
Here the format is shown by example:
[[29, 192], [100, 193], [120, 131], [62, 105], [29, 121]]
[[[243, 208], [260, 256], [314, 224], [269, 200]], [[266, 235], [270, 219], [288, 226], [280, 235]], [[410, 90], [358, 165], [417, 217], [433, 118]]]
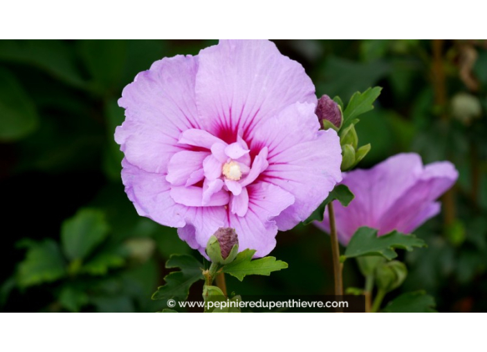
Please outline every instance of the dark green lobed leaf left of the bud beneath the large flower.
[[152, 300], [166, 300], [176, 296], [185, 300], [190, 292], [191, 285], [198, 280], [203, 280], [203, 273], [201, 272], [203, 264], [191, 255], [171, 255], [166, 262], [166, 268], [181, 268], [181, 271], [169, 273], [164, 278], [166, 284], [158, 287], [152, 295]]

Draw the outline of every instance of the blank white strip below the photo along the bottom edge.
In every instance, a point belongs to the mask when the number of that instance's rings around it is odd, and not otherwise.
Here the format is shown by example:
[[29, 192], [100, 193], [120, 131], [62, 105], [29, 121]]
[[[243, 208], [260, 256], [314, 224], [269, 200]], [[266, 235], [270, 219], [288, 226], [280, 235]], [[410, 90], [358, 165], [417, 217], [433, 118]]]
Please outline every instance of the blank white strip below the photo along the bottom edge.
[[0, 350], [479, 351], [485, 319], [485, 313], [3, 313]]

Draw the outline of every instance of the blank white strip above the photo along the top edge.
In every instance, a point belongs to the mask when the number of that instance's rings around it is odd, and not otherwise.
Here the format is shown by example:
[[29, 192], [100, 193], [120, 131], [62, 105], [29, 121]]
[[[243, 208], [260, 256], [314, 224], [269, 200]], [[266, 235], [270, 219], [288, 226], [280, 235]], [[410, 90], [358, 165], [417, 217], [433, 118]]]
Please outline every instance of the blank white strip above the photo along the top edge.
[[3, 1], [0, 37], [428, 39], [485, 33], [481, 2], [350, 0]]

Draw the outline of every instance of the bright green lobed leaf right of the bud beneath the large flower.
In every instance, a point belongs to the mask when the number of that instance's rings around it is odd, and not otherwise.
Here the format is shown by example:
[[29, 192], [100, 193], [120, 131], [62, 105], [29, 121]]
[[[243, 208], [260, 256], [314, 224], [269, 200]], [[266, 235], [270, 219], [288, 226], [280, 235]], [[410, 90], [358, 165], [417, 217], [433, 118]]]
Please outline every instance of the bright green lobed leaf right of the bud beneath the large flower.
[[241, 251], [235, 260], [226, 266], [223, 266], [223, 273], [228, 273], [237, 277], [240, 281], [246, 275], [270, 275], [273, 271], [285, 269], [288, 264], [281, 260], [275, 260], [275, 257], [264, 257], [252, 260], [255, 250], [246, 249]]

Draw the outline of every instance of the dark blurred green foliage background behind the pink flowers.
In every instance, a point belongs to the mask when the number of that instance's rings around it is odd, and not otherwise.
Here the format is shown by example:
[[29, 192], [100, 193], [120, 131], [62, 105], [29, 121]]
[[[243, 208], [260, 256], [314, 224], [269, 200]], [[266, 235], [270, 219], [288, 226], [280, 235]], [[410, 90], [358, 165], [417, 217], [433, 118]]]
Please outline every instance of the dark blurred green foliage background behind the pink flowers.
[[[162, 57], [216, 41], [0, 41], [2, 311], [160, 311], [150, 300], [172, 253], [173, 228], [139, 217], [120, 180], [117, 99]], [[357, 132], [368, 168], [396, 153], [449, 159], [459, 182], [441, 215], [416, 231], [428, 248], [401, 253], [401, 292], [425, 289], [439, 311], [487, 311], [487, 41], [275, 41], [300, 61], [318, 97], [382, 86]], [[199, 255], [196, 253], [196, 255]], [[285, 271], [238, 282], [239, 294], [331, 294], [328, 235], [279, 233]], [[345, 286], [361, 286], [356, 264]], [[194, 294], [201, 287], [192, 288]]]

